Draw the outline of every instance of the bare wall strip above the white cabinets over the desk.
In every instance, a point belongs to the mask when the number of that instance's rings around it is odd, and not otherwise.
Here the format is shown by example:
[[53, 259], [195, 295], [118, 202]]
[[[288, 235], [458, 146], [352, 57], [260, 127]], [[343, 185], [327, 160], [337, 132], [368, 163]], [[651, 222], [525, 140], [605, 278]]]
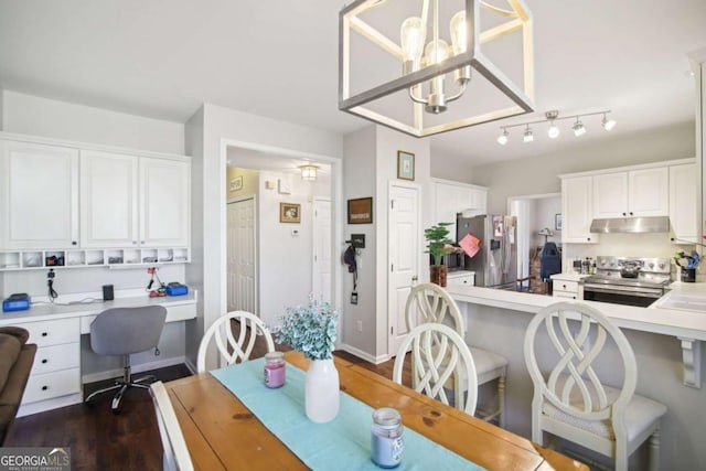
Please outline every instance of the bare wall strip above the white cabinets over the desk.
[[184, 153], [184, 125], [4, 92], [4, 131]]

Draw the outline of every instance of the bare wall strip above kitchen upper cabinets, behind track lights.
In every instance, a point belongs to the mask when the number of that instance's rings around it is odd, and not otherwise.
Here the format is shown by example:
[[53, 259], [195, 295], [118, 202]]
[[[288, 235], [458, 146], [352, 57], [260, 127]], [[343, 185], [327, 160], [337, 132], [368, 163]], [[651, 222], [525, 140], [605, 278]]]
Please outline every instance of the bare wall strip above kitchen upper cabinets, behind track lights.
[[598, 144], [585, 146], [571, 153], [550, 153], [475, 167], [473, 183], [489, 188], [489, 213], [502, 214], [506, 211], [509, 196], [560, 192], [557, 175], [563, 173], [693, 158], [694, 132], [694, 124], [685, 122], [627, 137], [606, 135]]

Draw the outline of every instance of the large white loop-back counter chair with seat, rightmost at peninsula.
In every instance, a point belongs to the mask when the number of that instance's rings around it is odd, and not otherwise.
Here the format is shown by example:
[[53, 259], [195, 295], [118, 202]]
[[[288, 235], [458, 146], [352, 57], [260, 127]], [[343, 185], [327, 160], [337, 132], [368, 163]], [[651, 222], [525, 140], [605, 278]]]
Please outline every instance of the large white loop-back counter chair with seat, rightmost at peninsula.
[[[570, 319], [578, 324], [571, 325]], [[548, 341], [538, 338], [538, 331]], [[591, 366], [611, 340], [622, 361], [620, 387], [605, 386]], [[620, 329], [589, 306], [559, 302], [530, 322], [524, 352], [534, 384], [533, 441], [544, 445], [544, 432], [549, 432], [613, 458], [616, 470], [627, 471], [630, 454], [650, 438], [650, 469], [659, 469], [660, 419], [666, 407], [634, 394], [638, 366]], [[543, 372], [537, 355], [546, 363], [549, 354], [558, 360]], [[618, 365], [611, 365], [610, 374], [617, 373]]]

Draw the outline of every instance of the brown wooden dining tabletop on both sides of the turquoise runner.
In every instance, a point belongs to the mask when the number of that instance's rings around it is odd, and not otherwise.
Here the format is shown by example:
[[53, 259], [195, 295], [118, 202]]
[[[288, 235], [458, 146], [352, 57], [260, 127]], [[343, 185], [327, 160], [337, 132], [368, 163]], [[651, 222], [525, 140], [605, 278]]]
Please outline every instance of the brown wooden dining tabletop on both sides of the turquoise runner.
[[[285, 360], [301, 370], [309, 361], [296, 352]], [[582, 470], [564, 454], [471, 417], [334, 357], [341, 392], [372, 408], [394, 407], [410, 428], [488, 470]], [[308, 469], [238, 398], [210, 373], [165, 383], [195, 469]], [[302, 440], [306, 440], [302, 437]]]

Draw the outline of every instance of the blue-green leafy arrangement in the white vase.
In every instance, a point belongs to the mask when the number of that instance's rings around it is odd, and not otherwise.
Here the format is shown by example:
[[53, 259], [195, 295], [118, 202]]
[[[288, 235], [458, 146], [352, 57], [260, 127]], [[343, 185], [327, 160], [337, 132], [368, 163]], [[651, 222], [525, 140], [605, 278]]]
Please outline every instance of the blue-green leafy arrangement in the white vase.
[[285, 308], [281, 323], [272, 329], [275, 342], [288, 343], [309, 360], [330, 360], [336, 339], [339, 313], [328, 302], [317, 303], [309, 296], [309, 306]]

